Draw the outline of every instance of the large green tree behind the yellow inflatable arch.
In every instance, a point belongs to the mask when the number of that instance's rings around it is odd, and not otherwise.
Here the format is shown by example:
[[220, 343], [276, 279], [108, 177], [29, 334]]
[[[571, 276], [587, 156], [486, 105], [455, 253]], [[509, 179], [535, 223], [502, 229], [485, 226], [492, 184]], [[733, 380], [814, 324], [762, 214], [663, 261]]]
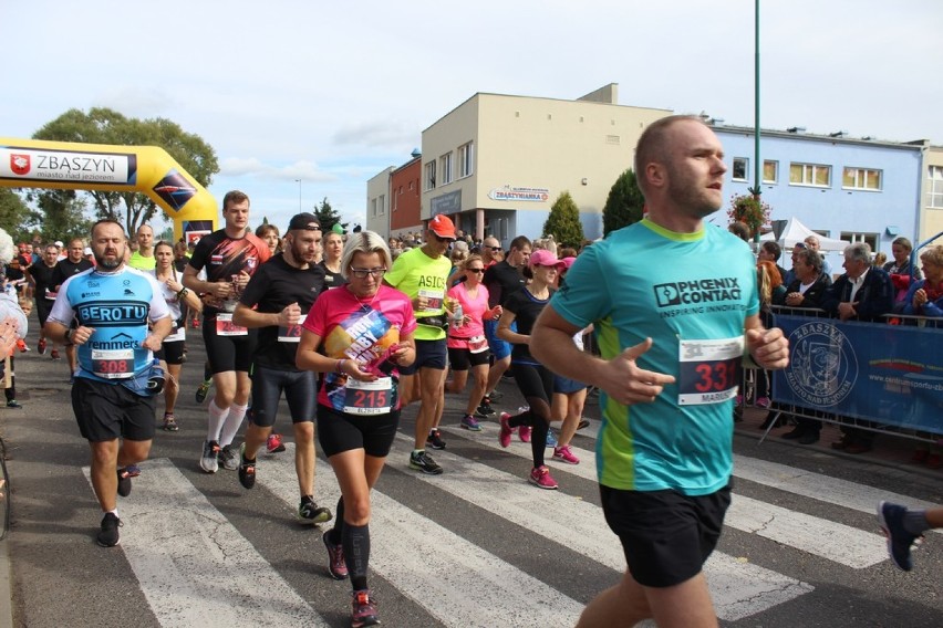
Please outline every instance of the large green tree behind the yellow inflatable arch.
[[[48, 123], [34, 139], [115, 144], [120, 146], [159, 146], [201, 186], [209, 186], [219, 171], [216, 151], [200, 136], [186, 133], [165, 118], [128, 118], [110, 108], [93, 107], [89, 113], [69, 109]], [[151, 221], [158, 206], [138, 192], [90, 191], [95, 214], [122, 222], [128, 233]]]

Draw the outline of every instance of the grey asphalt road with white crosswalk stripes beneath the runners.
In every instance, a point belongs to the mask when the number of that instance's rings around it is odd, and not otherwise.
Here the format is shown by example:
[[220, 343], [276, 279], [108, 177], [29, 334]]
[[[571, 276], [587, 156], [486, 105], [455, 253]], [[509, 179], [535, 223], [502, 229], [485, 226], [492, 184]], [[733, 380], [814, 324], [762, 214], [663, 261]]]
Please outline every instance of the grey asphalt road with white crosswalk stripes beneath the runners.
[[[0, 409], [13, 493], [8, 537], [14, 626], [348, 626], [348, 583], [325, 575], [320, 531], [293, 520], [291, 448], [263, 457], [259, 485], [235, 472], [203, 473], [206, 426], [194, 401], [203, 343], [190, 335], [177, 418], [158, 430], [152, 460], [120, 500], [122, 545], [94, 542], [101, 520], [86, 479], [64, 362], [17, 356], [24, 408]], [[30, 335], [35, 348], [35, 333]], [[522, 405], [504, 381], [501, 408]], [[497, 447], [497, 423], [457, 428], [464, 398], [448, 396], [448, 447], [437, 478], [411, 471], [415, 407], [377, 485], [371, 523], [371, 586], [385, 626], [569, 626], [624, 558], [602, 522], [593, 481], [594, 428], [574, 447], [582, 463], [551, 463], [559, 491], [526, 482], [529, 446]], [[159, 415], [159, 412], [158, 412]], [[586, 415], [599, 418], [594, 401]], [[280, 431], [290, 431], [287, 409]], [[943, 502], [941, 475], [839, 458], [776, 439], [754, 426], [735, 437], [735, 505], [707, 568], [724, 626], [939, 626], [943, 536], [930, 534], [916, 568], [891, 565], [877, 526], [878, 499]], [[319, 460], [317, 495], [338, 490]], [[0, 553], [2, 554], [2, 553]]]

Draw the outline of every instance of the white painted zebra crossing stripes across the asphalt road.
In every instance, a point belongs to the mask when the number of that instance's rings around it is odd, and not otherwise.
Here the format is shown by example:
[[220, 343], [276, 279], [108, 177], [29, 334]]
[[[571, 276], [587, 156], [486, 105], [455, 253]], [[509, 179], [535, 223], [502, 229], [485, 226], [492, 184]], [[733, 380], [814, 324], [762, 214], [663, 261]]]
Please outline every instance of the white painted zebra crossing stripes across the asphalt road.
[[[510, 448], [502, 449], [494, 426], [481, 433], [443, 429], [519, 459], [519, 473], [452, 450], [434, 452], [446, 470], [443, 475], [417, 473], [408, 469], [405, 452], [412, 438], [403, 433], [397, 435], [387, 473], [407, 474], [421, 483], [417, 486], [500, 517], [507, 524], [502, 534], [520, 535], [531, 543], [530, 537], [538, 536], [543, 540], [539, 543], [562, 545], [612, 569], [613, 583], [618, 579], [625, 559], [601, 509], [567, 491], [568, 480], [595, 481], [592, 451], [573, 448], [582, 460], [578, 465], [551, 462], [561, 490], [541, 491], [527, 483], [530, 446], [518, 442], [517, 437]], [[299, 500], [293, 443], [286, 446], [282, 454], [260, 458], [255, 491], [273, 494], [293, 511]], [[550, 454], [548, 450], [548, 461]], [[85, 474], [87, 478], [87, 469]], [[873, 512], [877, 499], [889, 496], [866, 485], [742, 456], [736, 458], [735, 474], [856, 512]], [[242, 491], [235, 474], [219, 475], [218, 480], [232, 482]], [[336, 479], [321, 459], [315, 486], [319, 503], [334, 510]], [[906, 496], [900, 499], [913, 503]], [[135, 479], [132, 499], [122, 500], [120, 507], [122, 517], [133, 522], [122, 528], [121, 548], [160, 626], [206, 624], [207, 617], [214, 618], [213, 625], [330, 625], [170, 460], [147, 461], [144, 473]], [[443, 507], [450, 506], [444, 503]], [[175, 522], [173, 530], [167, 528], [167, 521]], [[726, 524], [852, 569], [887, 559], [884, 541], [878, 534], [743, 494], [735, 495]], [[432, 521], [402, 498], [380, 490], [372, 495], [371, 538], [371, 571], [444, 626], [567, 626], [576, 622], [583, 607], [582, 601], [547, 584], [540, 573], [524, 572]], [[327, 553], [320, 543], [303, 559], [330, 582]], [[815, 590], [795, 577], [721, 552], [714, 553], [705, 572], [718, 617], [724, 620], [749, 617]], [[346, 595], [346, 587], [343, 583], [339, 590]], [[266, 595], [246, 594], [258, 590]]]

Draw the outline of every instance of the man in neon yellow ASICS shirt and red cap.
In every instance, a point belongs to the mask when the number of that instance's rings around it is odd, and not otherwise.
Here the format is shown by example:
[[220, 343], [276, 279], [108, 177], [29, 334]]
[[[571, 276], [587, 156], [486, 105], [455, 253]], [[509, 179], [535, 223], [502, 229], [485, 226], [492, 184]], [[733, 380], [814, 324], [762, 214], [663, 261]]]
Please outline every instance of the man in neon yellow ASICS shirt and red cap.
[[412, 300], [418, 323], [416, 359], [400, 370], [400, 390], [404, 406], [421, 399], [410, 467], [429, 475], [442, 473], [442, 467], [426, 453], [426, 444], [433, 449], [445, 449], [438, 430], [445, 405], [445, 280], [452, 270], [445, 252], [449, 242], [454, 241], [455, 224], [447, 216], [435, 216], [429, 220], [426, 243], [396, 258], [384, 279], [387, 285], [403, 291]]

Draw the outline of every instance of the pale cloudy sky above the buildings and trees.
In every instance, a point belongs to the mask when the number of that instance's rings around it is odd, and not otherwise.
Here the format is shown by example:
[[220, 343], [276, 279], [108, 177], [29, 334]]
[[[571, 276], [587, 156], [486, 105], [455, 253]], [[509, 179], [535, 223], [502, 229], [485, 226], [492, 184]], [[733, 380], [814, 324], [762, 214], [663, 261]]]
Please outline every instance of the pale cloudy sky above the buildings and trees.
[[[764, 0], [763, 126], [943, 144], [941, 34], [939, 0]], [[476, 92], [619, 83], [754, 124], [754, 0], [30, 0], [0, 41], [0, 137], [73, 107], [169, 118], [216, 149], [217, 199], [282, 227], [324, 197], [363, 221], [366, 180]]]

